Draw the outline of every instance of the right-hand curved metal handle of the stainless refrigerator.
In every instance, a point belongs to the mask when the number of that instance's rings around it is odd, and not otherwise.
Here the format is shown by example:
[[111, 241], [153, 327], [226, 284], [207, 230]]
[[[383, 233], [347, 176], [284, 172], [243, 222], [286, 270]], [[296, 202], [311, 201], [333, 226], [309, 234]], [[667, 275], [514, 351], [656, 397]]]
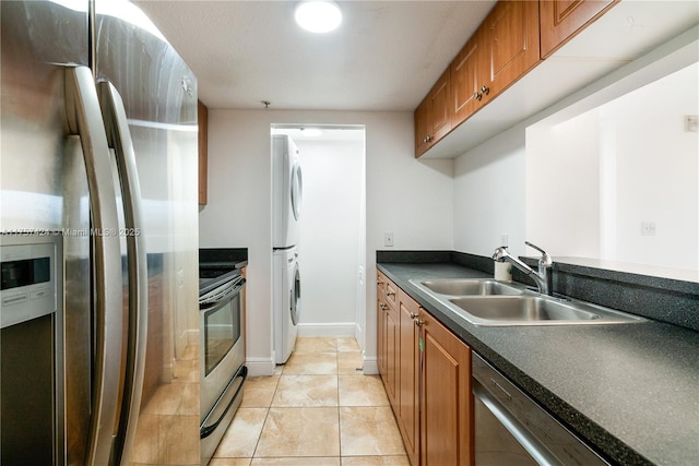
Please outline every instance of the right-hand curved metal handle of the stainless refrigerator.
[[117, 159], [126, 225], [125, 236], [129, 272], [129, 328], [125, 389], [112, 464], [128, 464], [135, 437], [145, 371], [149, 315], [147, 258], [145, 238], [142, 235], [141, 187], [139, 184], [135, 152], [123, 100], [117, 88], [109, 82], [98, 83], [97, 91], [108, 144], [109, 147], [114, 148]]

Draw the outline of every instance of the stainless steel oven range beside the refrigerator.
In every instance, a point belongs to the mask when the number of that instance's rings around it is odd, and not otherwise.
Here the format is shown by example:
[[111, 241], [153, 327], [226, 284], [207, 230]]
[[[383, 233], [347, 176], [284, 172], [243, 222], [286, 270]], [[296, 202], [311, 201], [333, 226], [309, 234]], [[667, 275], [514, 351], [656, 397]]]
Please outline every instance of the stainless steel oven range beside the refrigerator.
[[[212, 277], [212, 275], [214, 275]], [[217, 275], [217, 276], [216, 276]], [[242, 401], [248, 374], [240, 271], [200, 270], [201, 464], [211, 459]]]

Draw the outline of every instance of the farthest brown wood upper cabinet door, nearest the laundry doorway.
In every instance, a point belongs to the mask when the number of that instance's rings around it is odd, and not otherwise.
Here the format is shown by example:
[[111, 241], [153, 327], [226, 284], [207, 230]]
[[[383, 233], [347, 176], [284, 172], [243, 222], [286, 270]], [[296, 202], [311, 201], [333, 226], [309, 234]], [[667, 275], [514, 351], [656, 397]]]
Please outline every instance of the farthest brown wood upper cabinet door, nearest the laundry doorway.
[[445, 71], [415, 109], [415, 156], [419, 157], [451, 130], [451, 76]]

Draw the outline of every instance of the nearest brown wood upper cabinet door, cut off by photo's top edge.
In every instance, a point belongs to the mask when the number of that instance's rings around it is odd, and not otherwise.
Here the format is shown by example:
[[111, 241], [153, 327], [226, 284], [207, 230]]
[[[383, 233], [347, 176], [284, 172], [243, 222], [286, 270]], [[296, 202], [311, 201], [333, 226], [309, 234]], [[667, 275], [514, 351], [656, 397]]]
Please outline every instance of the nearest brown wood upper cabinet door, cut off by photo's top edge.
[[560, 46], [604, 14], [618, 0], [541, 0], [541, 55], [548, 58]]

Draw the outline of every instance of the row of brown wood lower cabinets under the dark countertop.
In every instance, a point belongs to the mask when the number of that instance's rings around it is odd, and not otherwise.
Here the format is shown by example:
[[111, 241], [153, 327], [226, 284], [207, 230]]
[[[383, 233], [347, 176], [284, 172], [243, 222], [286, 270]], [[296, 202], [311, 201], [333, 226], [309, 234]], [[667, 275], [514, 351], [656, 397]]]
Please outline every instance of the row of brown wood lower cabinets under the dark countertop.
[[377, 302], [379, 373], [411, 464], [473, 465], [471, 348], [380, 272]]

